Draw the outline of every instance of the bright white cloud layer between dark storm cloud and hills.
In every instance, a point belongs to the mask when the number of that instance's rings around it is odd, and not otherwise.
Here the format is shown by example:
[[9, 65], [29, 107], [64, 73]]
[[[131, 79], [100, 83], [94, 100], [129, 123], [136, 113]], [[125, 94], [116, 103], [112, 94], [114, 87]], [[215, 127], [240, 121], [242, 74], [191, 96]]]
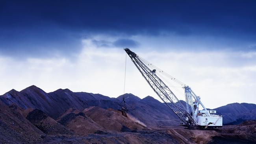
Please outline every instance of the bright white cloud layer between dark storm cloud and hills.
[[[165, 72], [186, 83], [202, 97], [202, 102], [215, 108], [227, 103], [256, 103], [252, 89], [256, 86], [255, 63], [251, 52], [143, 52], [132, 49]], [[1, 93], [11, 88], [22, 90], [37, 85], [46, 92], [69, 88], [117, 97], [123, 93], [125, 52], [119, 48], [98, 48], [92, 39], [83, 40], [83, 49], [73, 61], [65, 57], [28, 58], [26, 61], [1, 57]], [[141, 98], [150, 95], [158, 98], [127, 59], [126, 92]], [[180, 99], [182, 88], [171, 88]], [[158, 100], [160, 100], [158, 98]]]

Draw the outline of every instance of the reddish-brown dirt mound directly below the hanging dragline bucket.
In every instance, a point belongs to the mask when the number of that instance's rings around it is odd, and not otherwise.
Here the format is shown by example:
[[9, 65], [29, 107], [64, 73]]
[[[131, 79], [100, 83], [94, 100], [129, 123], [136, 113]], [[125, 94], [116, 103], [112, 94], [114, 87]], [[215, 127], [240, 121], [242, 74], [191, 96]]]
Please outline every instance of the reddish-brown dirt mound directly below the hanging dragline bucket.
[[131, 131], [134, 129], [143, 129], [145, 126], [123, 116], [115, 111], [108, 111], [100, 107], [89, 107], [83, 111], [98, 125], [112, 131]]

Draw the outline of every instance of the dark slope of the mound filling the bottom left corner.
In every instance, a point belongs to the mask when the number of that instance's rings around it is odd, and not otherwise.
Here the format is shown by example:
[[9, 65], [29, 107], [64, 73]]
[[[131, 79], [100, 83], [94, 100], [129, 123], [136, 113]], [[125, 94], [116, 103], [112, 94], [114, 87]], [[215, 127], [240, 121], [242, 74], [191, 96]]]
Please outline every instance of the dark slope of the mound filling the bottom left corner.
[[17, 106], [0, 102], [1, 144], [33, 144], [41, 141], [41, 135], [43, 132], [26, 120]]

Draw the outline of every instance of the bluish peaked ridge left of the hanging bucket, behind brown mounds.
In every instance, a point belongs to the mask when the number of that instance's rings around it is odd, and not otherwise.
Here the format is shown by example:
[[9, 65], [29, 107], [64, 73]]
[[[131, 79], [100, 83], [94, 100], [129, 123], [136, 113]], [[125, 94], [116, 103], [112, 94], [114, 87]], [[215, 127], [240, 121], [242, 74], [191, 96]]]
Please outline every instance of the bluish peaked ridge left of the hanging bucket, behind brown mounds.
[[101, 94], [72, 92], [69, 89], [58, 89], [54, 92], [46, 93], [35, 85], [20, 92], [10, 90], [0, 96], [0, 100], [6, 105], [15, 103], [23, 109], [40, 109], [54, 119], [69, 108], [80, 111], [90, 106], [100, 106], [104, 109], [119, 108], [119, 100]]

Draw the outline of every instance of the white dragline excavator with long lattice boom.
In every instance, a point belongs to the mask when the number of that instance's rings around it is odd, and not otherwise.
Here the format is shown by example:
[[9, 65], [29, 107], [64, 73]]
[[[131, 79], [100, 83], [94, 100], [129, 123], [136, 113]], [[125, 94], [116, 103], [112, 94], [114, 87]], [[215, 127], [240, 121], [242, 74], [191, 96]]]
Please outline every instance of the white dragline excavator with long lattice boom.
[[[165, 73], [163, 70], [160, 70], [145, 59], [139, 57], [129, 48], [124, 48], [124, 50], [154, 92], [156, 92], [167, 107], [169, 107], [171, 111], [180, 118], [181, 126], [199, 126], [202, 129], [222, 127], [222, 116], [217, 115], [216, 111], [207, 110], [200, 101], [200, 97], [197, 96], [189, 86]], [[167, 80], [163, 76], [175, 81], [185, 90], [185, 106], [164, 83], [164, 81], [166, 82]], [[160, 79], [160, 77], [162, 79]], [[199, 110], [199, 106], [202, 106], [202, 110]]]

